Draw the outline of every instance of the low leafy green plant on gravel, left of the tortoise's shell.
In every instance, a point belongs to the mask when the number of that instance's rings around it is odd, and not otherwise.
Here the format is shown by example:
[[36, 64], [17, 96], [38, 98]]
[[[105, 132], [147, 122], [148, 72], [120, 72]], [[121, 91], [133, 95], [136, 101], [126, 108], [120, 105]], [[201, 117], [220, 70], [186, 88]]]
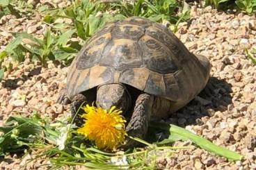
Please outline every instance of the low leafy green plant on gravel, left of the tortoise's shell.
[[24, 61], [24, 56], [29, 53], [30, 58], [40, 60], [44, 66], [47, 60], [65, 60], [67, 62], [81, 49], [81, 45], [70, 41], [74, 32], [74, 30], [70, 30], [61, 35], [53, 35], [47, 29], [43, 40], [28, 33], [16, 33], [15, 38], [2, 53], [8, 54], [18, 62]]

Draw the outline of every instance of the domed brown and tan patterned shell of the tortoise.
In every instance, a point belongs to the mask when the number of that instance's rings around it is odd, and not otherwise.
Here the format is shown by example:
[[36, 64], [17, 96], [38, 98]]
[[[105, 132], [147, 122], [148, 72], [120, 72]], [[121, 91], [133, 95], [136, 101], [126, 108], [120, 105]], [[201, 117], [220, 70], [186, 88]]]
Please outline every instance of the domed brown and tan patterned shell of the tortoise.
[[86, 42], [67, 74], [67, 96], [125, 83], [171, 101], [187, 101], [205, 87], [208, 64], [165, 26], [129, 17], [106, 24]]

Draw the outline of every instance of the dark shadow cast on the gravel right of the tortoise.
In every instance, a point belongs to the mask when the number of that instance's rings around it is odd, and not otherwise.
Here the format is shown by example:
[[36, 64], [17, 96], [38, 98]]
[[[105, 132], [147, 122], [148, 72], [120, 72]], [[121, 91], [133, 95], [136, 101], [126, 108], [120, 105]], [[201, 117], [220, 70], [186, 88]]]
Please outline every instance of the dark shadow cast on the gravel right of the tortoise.
[[202, 122], [200, 118], [212, 117], [216, 111], [224, 112], [232, 103], [231, 87], [232, 85], [225, 80], [219, 80], [216, 77], [209, 78], [207, 86], [195, 99], [171, 115], [170, 123], [182, 127], [191, 124], [200, 125]]

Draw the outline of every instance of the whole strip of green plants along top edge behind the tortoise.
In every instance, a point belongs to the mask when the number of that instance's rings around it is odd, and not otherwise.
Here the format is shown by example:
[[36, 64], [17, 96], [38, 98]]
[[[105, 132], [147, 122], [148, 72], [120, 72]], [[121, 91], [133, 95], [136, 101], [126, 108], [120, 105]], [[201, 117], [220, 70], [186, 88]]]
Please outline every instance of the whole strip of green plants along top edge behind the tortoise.
[[83, 0], [75, 1], [72, 6], [64, 9], [51, 10], [45, 21], [54, 24], [56, 18], [72, 19], [77, 35], [82, 40], [87, 40], [106, 22], [125, 17], [141, 16], [154, 22], [168, 20], [173, 24], [189, 19], [189, 8], [186, 8], [186, 11], [183, 11], [181, 15], [177, 15], [178, 9], [178, 3], [175, 0], [115, 1], [112, 3], [102, 3], [100, 1], [93, 3], [89, 0]]

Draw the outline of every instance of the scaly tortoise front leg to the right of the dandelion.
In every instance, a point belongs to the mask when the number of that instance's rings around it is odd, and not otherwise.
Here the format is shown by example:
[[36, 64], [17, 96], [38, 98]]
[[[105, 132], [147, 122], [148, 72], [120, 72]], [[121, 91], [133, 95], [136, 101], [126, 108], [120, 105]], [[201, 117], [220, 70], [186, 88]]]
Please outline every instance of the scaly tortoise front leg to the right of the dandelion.
[[[150, 94], [143, 93], [138, 96], [134, 107], [134, 112], [131, 115], [131, 120], [127, 125], [128, 135], [131, 137], [145, 139], [152, 113], [153, 101], [154, 96]], [[132, 139], [127, 139], [125, 147], [133, 146], [136, 146], [136, 142]]]

